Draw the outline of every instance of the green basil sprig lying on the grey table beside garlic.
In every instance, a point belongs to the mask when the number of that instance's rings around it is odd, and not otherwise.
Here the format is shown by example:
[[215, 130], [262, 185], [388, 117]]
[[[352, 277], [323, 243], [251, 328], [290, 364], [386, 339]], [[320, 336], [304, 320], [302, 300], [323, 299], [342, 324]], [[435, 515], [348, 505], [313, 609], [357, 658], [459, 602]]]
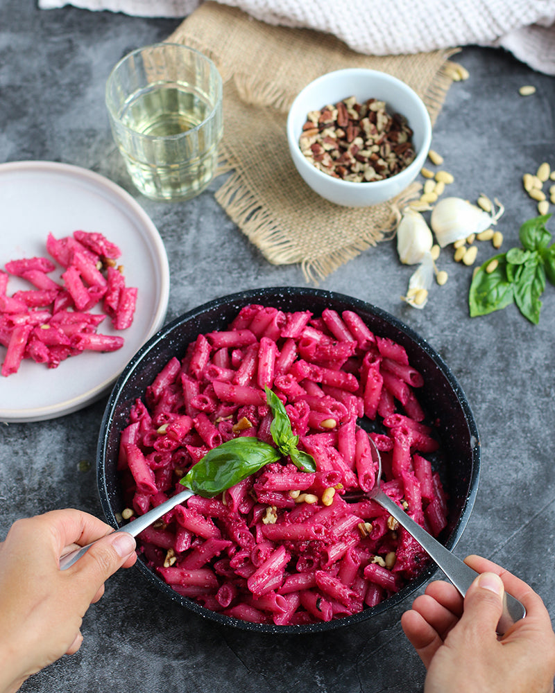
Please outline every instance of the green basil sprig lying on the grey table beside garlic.
[[[519, 237], [522, 247], [490, 258], [479, 268], [470, 284], [470, 317], [487, 315], [515, 303], [520, 313], [533, 324], [540, 322], [546, 277], [555, 285], [555, 243], [545, 228], [551, 214], [524, 222]], [[493, 272], [486, 267], [497, 260]]]

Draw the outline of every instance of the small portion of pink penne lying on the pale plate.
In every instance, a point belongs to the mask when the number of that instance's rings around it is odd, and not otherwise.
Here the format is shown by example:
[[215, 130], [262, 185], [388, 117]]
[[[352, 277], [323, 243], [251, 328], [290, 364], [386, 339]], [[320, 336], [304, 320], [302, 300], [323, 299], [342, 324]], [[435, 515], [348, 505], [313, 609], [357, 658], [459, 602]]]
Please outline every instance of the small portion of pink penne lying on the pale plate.
[[[68, 356], [88, 351], [116, 351], [123, 337], [96, 332], [106, 316], [116, 330], [133, 323], [137, 289], [126, 286], [116, 259], [121, 251], [102, 234], [74, 231], [46, 250], [53, 258], [35, 257], [6, 263], [0, 270], [0, 344], [6, 347], [2, 376], [17, 373], [24, 358], [56, 368]], [[61, 266], [61, 283], [49, 274]], [[8, 295], [8, 279], [20, 277], [29, 288]], [[99, 306], [102, 313], [89, 311]]]

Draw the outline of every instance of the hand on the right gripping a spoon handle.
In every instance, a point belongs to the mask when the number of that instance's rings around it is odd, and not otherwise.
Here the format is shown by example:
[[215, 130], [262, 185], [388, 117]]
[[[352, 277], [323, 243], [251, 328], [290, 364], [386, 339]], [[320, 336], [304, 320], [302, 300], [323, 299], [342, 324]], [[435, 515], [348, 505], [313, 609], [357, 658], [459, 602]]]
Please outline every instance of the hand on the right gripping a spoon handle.
[[[427, 668], [425, 692], [552, 693], [555, 633], [542, 600], [487, 559], [468, 556], [465, 562], [481, 574], [464, 601], [451, 584], [432, 582], [401, 618]], [[504, 589], [527, 615], [498, 638]]]

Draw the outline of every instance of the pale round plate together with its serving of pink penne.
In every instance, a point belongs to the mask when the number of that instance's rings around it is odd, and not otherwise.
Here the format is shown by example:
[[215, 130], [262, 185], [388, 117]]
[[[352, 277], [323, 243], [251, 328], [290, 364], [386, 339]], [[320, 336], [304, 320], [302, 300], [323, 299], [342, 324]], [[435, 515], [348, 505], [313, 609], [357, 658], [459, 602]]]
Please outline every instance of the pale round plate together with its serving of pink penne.
[[122, 188], [48, 161], [0, 165], [0, 421], [92, 403], [164, 322], [167, 255]]

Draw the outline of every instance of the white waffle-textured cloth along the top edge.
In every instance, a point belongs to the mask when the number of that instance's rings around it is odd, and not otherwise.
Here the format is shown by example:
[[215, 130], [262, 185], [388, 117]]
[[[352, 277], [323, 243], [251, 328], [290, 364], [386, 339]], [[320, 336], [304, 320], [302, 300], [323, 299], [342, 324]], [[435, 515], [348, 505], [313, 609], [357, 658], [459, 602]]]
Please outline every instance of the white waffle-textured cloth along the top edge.
[[[186, 17], [202, 0], [39, 0], [140, 17]], [[360, 53], [500, 46], [555, 74], [555, 0], [219, 0], [268, 24], [331, 33]]]

